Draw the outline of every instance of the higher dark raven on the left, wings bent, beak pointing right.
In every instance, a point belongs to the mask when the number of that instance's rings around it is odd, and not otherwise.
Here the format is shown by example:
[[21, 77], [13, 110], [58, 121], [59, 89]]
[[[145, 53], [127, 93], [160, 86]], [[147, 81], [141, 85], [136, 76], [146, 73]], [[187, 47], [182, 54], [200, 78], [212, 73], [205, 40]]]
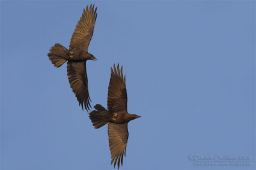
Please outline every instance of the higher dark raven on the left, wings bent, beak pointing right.
[[55, 67], [60, 67], [68, 61], [68, 80], [77, 101], [82, 108], [90, 110], [90, 96], [88, 92], [88, 80], [86, 74], [86, 60], [97, 60], [92, 54], [88, 53], [88, 46], [92, 39], [93, 29], [97, 18], [97, 7], [94, 4], [90, 9], [86, 6], [82, 17], [76, 25], [72, 35], [69, 50], [59, 43], [52, 46], [48, 57]]

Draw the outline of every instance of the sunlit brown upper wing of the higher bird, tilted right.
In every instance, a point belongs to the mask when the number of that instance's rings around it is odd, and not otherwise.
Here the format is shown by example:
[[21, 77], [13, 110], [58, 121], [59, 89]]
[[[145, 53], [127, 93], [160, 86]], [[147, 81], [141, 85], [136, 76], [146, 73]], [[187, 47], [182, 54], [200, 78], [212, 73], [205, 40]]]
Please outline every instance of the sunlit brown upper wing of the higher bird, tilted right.
[[69, 45], [70, 50], [88, 50], [88, 46], [93, 35], [95, 21], [97, 18], [96, 11], [97, 7], [94, 10], [94, 4], [93, 6], [91, 4], [89, 10], [88, 6], [86, 6], [86, 10], [84, 10], [82, 17], [78, 21], [76, 29], [72, 35]]

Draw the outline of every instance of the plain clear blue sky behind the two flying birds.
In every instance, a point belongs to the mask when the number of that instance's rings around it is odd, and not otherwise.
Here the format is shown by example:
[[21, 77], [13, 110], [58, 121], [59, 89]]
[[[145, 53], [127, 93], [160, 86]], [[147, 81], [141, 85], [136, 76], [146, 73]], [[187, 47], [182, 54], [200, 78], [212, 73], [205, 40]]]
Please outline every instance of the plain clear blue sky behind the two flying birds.
[[[128, 111], [142, 116], [121, 168], [254, 169], [255, 1], [1, 1], [1, 168], [113, 169], [107, 125], [93, 128], [67, 64], [47, 57], [91, 3], [92, 106], [106, 108], [119, 62]], [[250, 164], [196, 166], [198, 155]]]

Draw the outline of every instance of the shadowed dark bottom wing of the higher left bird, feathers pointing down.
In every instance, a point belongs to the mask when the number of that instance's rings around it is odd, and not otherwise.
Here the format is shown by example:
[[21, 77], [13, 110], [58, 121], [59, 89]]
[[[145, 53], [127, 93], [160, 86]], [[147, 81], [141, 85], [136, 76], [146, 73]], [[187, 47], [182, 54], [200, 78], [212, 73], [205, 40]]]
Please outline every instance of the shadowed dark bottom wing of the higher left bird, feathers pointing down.
[[88, 80], [86, 74], [86, 62], [70, 62], [68, 61], [68, 80], [77, 101], [82, 108], [90, 110], [90, 96], [88, 92]]

